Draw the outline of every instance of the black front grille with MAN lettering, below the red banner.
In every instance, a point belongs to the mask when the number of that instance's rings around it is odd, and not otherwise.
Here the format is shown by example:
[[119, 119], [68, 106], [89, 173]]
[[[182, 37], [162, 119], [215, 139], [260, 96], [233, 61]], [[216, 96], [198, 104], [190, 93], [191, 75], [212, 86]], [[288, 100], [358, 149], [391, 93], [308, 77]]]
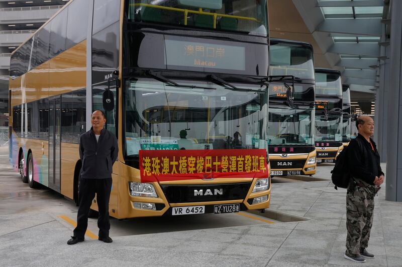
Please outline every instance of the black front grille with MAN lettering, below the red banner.
[[224, 184], [161, 184], [169, 203], [244, 199], [251, 182]]

